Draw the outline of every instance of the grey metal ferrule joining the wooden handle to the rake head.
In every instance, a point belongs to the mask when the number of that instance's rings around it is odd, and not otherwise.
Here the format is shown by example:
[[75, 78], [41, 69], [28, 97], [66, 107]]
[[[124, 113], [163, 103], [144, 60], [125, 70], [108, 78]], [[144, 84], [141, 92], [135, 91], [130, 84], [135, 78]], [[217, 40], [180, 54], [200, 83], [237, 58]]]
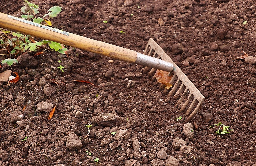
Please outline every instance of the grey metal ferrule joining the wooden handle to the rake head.
[[163, 71], [171, 72], [173, 70], [173, 64], [171, 62], [164, 61], [162, 59], [154, 58], [148, 55], [144, 55], [137, 52], [137, 60], [135, 64], [151, 67]]

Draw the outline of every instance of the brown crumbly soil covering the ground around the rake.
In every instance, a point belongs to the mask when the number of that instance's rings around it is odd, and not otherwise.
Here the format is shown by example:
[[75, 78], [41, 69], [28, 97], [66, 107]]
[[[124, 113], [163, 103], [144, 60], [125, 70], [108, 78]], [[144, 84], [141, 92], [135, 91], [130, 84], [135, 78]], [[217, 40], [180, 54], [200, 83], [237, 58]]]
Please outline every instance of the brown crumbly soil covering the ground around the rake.
[[[67, 32], [140, 53], [153, 38], [205, 101], [192, 126], [183, 124], [174, 118], [184, 113], [143, 66], [68, 46], [68, 57], [45, 52], [1, 69], [20, 80], [0, 83], [0, 165], [255, 165], [256, 69], [235, 59], [256, 54], [254, 0], [31, 2], [41, 17], [61, 6], [52, 23]], [[20, 17], [22, 1], [0, 5]], [[234, 130], [217, 135], [209, 126], [219, 122]]]

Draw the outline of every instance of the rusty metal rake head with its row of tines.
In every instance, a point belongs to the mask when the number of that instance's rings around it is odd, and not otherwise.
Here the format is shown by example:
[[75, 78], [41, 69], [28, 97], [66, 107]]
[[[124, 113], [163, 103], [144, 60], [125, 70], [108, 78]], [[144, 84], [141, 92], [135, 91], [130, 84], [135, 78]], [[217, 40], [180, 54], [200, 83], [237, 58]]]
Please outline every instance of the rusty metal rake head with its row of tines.
[[[144, 54], [173, 64], [174, 69], [169, 73], [169, 76], [173, 75], [170, 81], [173, 87], [170, 92], [168, 92], [167, 89], [164, 91], [168, 93], [167, 98], [171, 98], [173, 95], [174, 99], [180, 97], [175, 107], [180, 109], [179, 113], [184, 112], [184, 110], [188, 108], [184, 115], [184, 123], [189, 122], [195, 116], [201, 103], [204, 101], [204, 96], [152, 38], [149, 39]], [[155, 72], [156, 69], [151, 69], [150, 67], [145, 67], [143, 71], [144, 74], [148, 73], [148, 76], [152, 76]], [[163, 87], [163, 85], [161, 86]]]

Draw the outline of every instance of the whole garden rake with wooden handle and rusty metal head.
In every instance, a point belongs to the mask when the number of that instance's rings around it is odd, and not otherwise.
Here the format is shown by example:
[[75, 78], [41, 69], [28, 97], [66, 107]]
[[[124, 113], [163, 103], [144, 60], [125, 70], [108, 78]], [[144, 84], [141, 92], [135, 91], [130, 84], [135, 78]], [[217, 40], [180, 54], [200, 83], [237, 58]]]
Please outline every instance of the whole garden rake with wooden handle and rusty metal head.
[[[58, 30], [4, 13], [0, 13], [0, 27], [125, 62], [146, 66], [143, 73], [149, 72], [149, 75], [154, 74], [157, 69], [169, 72], [169, 76], [173, 75], [170, 84], [174, 86], [168, 93], [167, 98], [173, 95], [174, 98], [180, 96], [180, 99], [175, 105], [175, 107], [180, 108], [179, 113], [182, 113], [188, 107], [184, 115], [185, 123], [192, 119], [201, 103], [204, 101], [204, 96], [195, 85], [153, 39], [149, 39], [144, 54], [141, 54], [130, 49]], [[165, 92], [167, 92], [167, 90], [165, 90]]]

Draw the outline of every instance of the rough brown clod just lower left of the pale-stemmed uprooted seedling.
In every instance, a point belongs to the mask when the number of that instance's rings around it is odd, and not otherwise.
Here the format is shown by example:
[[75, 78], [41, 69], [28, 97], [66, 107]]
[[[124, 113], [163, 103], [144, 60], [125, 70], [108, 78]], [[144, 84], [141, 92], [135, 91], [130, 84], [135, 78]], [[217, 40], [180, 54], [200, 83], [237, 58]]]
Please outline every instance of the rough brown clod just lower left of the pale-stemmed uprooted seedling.
[[80, 149], [83, 145], [81, 143], [81, 140], [78, 138], [78, 136], [74, 132], [70, 132], [68, 134], [66, 146], [67, 148], [69, 148], [69, 150], [75, 151]]

